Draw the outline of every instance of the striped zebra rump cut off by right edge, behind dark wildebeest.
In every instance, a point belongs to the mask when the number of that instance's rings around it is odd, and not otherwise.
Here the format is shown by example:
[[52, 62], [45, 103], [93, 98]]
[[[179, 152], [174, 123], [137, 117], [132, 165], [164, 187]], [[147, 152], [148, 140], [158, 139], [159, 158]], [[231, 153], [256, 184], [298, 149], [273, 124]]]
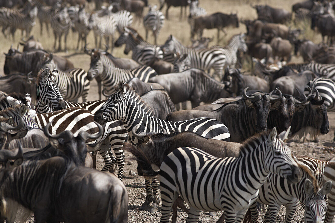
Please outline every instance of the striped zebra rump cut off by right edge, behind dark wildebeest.
[[[335, 110], [335, 83], [333, 80], [328, 78], [316, 78], [311, 81], [308, 86], [312, 92], [314, 92], [314, 89], [319, 91], [319, 95], [325, 99], [324, 104], [327, 107], [327, 111]], [[304, 93], [308, 95], [308, 89], [305, 89]]]

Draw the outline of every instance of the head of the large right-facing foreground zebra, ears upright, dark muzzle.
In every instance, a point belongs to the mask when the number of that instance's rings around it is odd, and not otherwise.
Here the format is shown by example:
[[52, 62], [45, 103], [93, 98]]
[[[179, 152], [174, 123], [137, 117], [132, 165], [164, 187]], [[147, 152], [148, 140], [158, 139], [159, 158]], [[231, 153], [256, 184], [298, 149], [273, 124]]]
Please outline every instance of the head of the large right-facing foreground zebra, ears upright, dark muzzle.
[[277, 137], [277, 130], [273, 128], [267, 139], [262, 143], [265, 147], [264, 165], [267, 171], [285, 178], [290, 184], [297, 183], [302, 177], [297, 159], [291, 149], [284, 143], [290, 134], [289, 127]]

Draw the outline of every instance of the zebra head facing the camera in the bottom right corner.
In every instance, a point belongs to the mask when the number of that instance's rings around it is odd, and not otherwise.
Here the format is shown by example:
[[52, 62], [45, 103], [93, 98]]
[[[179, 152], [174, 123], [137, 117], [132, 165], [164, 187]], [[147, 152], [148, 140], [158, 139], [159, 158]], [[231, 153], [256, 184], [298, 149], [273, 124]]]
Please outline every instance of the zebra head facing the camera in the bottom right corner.
[[[316, 180], [315, 180], [316, 181]], [[305, 192], [305, 223], [324, 222], [327, 195], [332, 189], [332, 181], [327, 181], [321, 188], [311, 180], [306, 179], [304, 182]]]

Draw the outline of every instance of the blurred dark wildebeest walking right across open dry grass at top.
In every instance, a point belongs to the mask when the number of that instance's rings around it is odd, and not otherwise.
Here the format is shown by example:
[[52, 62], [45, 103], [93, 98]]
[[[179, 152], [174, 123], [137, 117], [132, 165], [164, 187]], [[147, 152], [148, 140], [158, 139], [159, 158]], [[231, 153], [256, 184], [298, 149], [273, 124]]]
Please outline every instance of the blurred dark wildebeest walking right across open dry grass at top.
[[202, 37], [204, 29], [217, 29], [217, 41], [219, 41], [220, 30], [226, 35], [225, 27], [239, 27], [239, 19], [237, 14], [224, 14], [221, 12], [216, 12], [211, 15], [203, 15], [194, 18], [194, 27], [191, 31], [191, 38], [198, 33], [198, 37]]

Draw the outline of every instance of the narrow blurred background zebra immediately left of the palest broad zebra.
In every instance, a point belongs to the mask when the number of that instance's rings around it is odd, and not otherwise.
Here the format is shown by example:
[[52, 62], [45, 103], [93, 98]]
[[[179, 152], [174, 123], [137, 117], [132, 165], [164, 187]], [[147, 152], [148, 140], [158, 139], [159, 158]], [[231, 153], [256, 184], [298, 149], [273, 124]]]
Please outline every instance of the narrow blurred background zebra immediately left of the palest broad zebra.
[[82, 50], [86, 45], [87, 35], [89, 32], [88, 16], [86, 15], [84, 6], [70, 6], [67, 11], [74, 29], [78, 32], [78, 43], [76, 49], [79, 49], [79, 42], [81, 40]]

